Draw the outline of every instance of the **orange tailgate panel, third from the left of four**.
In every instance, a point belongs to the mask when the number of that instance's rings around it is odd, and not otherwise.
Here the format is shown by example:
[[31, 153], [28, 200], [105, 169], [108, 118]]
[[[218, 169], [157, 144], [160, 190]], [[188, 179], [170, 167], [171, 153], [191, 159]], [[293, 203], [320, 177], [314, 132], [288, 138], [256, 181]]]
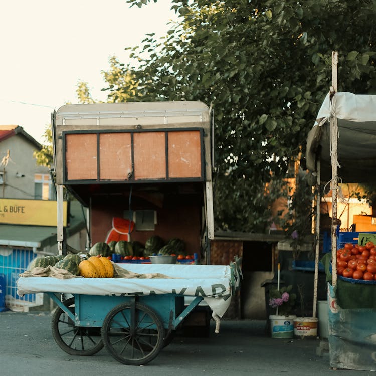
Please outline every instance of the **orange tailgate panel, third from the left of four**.
[[134, 178], [166, 178], [166, 140], [164, 132], [134, 133]]

